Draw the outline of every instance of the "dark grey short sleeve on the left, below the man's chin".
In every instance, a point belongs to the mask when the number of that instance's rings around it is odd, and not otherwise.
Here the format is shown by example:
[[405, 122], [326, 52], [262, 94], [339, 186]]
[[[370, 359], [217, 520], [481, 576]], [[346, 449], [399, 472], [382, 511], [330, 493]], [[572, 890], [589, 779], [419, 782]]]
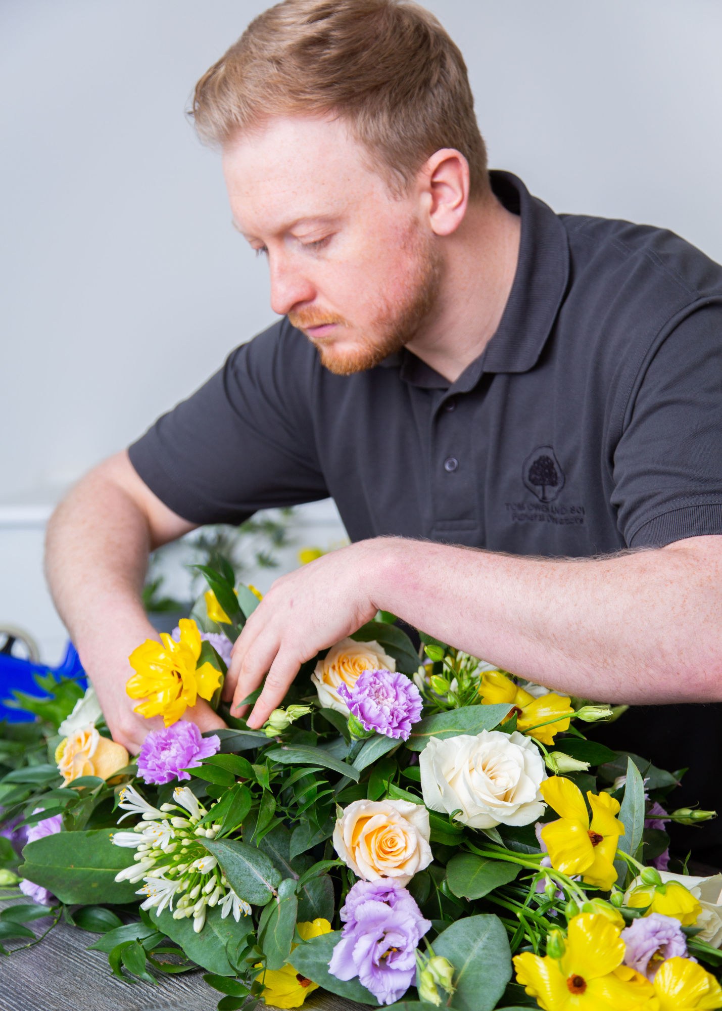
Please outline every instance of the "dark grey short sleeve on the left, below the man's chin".
[[196, 524], [326, 498], [311, 413], [315, 352], [281, 320], [237, 348], [128, 448], [150, 489]]

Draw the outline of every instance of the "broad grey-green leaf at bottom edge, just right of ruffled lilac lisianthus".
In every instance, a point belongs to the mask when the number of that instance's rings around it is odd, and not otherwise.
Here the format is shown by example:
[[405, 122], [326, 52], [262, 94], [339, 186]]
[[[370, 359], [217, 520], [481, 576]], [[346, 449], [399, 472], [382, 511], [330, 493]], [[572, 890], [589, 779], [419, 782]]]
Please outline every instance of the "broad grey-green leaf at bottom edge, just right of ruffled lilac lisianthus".
[[512, 978], [507, 931], [498, 916], [467, 916], [434, 941], [434, 953], [454, 967], [458, 1011], [492, 1011]]

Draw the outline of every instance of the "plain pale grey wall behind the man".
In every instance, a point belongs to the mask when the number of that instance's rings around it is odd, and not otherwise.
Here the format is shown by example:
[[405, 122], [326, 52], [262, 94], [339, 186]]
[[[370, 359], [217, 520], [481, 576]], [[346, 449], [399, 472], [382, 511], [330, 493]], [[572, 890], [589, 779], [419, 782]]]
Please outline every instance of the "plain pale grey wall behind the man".
[[[722, 260], [719, 0], [427, 5], [465, 55], [491, 165], [557, 210], [666, 225]], [[58, 493], [273, 319], [183, 116], [265, 6], [0, 2], [0, 623], [50, 629], [54, 650]]]

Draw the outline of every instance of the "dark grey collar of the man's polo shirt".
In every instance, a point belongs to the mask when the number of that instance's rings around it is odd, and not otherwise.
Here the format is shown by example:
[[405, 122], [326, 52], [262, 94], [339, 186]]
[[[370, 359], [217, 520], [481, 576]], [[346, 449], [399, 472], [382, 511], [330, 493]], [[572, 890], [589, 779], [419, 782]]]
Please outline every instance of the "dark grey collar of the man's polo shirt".
[[405, 349], [381, 362], [400, 366], [400, 378], [414, 386], [464, 393], [483, 372], [528, 372], [539, 360], [563, 301], [569, 276], [564, 225], [511, 172], [492, 171], [489, 177], [493, 192], [508, 210], [520, 214], [522, 225], [517, 272], [504, 314], [484, 351], [451, 386]]

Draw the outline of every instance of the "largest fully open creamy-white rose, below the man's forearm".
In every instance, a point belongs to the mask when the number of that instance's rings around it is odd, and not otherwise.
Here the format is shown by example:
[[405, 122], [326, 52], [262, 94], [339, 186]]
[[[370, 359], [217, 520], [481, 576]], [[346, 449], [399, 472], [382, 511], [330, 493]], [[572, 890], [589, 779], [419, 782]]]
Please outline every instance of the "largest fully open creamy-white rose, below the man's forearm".
[[541, 817], [546, 778], [536, 744], [516, 730], [432, 737], [419, 757], [424, 803], [471, 828], [528, 825]]

